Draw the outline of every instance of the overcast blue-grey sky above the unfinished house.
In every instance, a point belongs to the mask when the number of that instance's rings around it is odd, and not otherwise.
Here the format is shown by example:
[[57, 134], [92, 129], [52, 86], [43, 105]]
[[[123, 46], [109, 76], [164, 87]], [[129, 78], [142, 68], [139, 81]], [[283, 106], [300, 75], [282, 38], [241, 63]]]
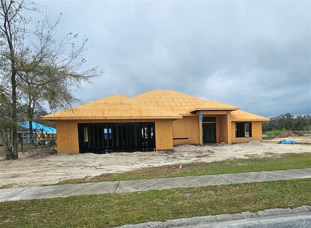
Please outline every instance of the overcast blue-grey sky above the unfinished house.
[[262, 116], [311, 113], [311, 1], [35, 1], [105, 71], [84, 103], [153, 89]]

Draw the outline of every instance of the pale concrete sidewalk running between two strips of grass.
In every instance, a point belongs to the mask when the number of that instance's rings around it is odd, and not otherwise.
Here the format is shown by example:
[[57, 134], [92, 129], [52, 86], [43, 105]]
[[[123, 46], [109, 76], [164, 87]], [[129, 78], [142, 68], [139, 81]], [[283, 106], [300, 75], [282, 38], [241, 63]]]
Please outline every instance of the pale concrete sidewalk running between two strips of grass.
[[105, 193], [129, 193], [171, 188], [201, 187], [208, 185], [239, 184], [269, 180], [311, 178], [311, 168], [263, 171], [237, 174], [191, 176], [179, 178], [121, 180], [100, 183], [64, 184], [44, 187], [0, 189], [0, 202], [22, 199], [67, 197]]

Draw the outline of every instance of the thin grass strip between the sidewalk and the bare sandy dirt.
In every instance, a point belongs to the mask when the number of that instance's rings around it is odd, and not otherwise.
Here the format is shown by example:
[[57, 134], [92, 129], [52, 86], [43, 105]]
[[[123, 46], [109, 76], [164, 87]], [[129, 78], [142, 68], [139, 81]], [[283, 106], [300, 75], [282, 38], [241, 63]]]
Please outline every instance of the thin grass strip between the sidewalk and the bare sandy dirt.
[[213, 163], [188, 163], [142, 168], [131, 172], [103, 174], [92, 179], [69, 179], [58, 184], [100, 181], [202, 176], [225, 173], [246, 173], [271, 170], [311, 168], [311, 153], [283, 154], [278, 157], [232, 159]]

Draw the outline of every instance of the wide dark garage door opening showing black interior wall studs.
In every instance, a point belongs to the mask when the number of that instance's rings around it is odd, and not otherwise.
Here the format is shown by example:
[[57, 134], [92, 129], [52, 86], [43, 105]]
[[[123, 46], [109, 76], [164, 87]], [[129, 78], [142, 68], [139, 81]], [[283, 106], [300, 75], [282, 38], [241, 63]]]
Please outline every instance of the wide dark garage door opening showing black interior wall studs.
[[155, 150], [155, 122], [78, 124], [80, 153]]

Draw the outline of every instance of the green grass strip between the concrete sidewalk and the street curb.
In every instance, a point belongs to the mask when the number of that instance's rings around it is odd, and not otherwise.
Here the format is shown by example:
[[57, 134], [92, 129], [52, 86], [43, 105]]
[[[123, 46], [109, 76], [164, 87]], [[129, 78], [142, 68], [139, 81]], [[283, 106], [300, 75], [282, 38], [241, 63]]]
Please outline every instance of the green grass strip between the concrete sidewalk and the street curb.
[[0, 203], [0, 227], [114, 227], [311, 205], [311, 179]]

